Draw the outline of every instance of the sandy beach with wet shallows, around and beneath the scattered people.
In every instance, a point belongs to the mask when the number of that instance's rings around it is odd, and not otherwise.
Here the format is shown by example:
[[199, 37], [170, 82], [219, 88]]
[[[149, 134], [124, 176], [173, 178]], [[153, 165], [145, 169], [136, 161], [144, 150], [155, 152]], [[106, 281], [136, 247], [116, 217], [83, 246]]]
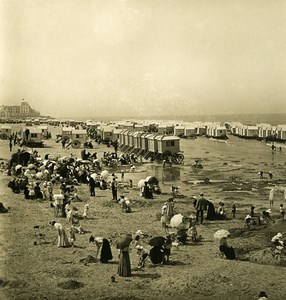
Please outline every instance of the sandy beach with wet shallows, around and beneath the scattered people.
[[[59, 128], [52, 128], [53, 137]], [[37, 151], [61, 156], [73, 154], [80, 157], [79, 149], [61, 149], [55, 139], [46, 140], [45, 148]], [[286, 187], [285, 151], [271, 153], [270, 147], [258, 141], [244, 141], [231, 137], [227, 143], [206, 138], [182, 140], [185, 153], [184, 165], [162, 168], [160, 163], [138, 163], [135, 172], [124, 167], [124, 183], [133, 181], [133, 188], [122, 188], [131, 201], [132, 213], [123, 213], [118, 204], [111, 201], [110, 190], [96, 189], [96, 197], [89, 196], [88, 186], [78, 186], [82, 200], [74, 205], [80, 212], [85, 203], [90, 205], [90, 218], [80, 220], [87, 231], [76, 236], [74, 248], [61, 249], [53, 245], [56, 232], [48, 223], [54, 213], [49, 201], [25, 200], [24, 195], [13, 194], [7, 187], [11, 177], [0, 173], [1, 202], [9, 207], [7, 214], [0, 215], [1, 222], [1, 299], [257, 299], [260, 291], [266, 291], [269, 299], [284, 299], [285, 263], [277, 263], [271, 255], [270, 239], [277, 232], [286, 234], [285, 222], [279, 220], [279, 204]], [[13, 152], [17, 147], [13, 149]], [[105, 145], [96, 145], [101, 158]], [[1, 159], [9, 159], [8, 142], [0, 141]], [[200, 159], [204, 168], [194, 170], [192, 164]], [[120, 174], [122, 167], [109, 169]], [[260, 180], [257, 172], [265, 171]], [[271, 170], [272, 180], [267, 177]], [[153, 200], [139, 196], [137, 182], [147, 176], [159, 179], [162, 194]], [[210, 179], [205, 183], [204, 179]], [[119, 181], [121, 178], [119, 176]], [[117, 276], [118, 254], [116, 238], [121, 233], [144, 232], [144, 243], [148, 247], [151, 237], [164, 235], [158, 215], [162, 205], [170, 198], [170, 187], [180, 185], [182, 198], [176, 198], [175, 212], [194, 214], [192, 196], [204, 192], [215, 206], [223, 201], [229, 220], [207, 221], [198, 225], [202, 236], [200, 243], [188, 240], [171, 250], [168, 265], [153, 265], [147, 262], [144, 269], [137, 269], [138, 257], [133, 249], [131, 257], [132, 277]], [[273, 208], [275, 223], [257, 226], [248, 230], [244, 217], [251, 205], [259, 212], [268, 208], [271, 188], [277, 190]], [[55, 188], [59, 191], [59, 187]], [[237, 217], [231, 219], [230, 208], [237, 205]], [[57, 217], [64, 226], [66, 219]], [[39, 225], [47, 243], [34, 245], [34, 226]], [[231, 232], [230, 242], [236, 250], [234, 261], [222, 259], [213, 234], [218, 229]], [[82, 263], [88, 255], [95, 255], [95, 246], [89, 243], [90, 234], [106, 237], [111, 241], [113, 260], [109, 264]], [[285, 258], [284, 258], [285, 260]], [[111, 276], [116, 280], [111, 283]], [[78, 286], [76, 285], [78, 284]], [[78, 287], [78, 288], [77, 288]]]

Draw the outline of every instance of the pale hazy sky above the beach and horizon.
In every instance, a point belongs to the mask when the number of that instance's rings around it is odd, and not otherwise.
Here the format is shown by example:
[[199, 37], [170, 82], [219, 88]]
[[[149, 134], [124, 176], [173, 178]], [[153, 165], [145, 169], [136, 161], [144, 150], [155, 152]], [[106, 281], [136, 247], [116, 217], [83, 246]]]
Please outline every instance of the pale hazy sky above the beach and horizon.
[[285, 0], [0, 0], [0, 104], [286, 113]]

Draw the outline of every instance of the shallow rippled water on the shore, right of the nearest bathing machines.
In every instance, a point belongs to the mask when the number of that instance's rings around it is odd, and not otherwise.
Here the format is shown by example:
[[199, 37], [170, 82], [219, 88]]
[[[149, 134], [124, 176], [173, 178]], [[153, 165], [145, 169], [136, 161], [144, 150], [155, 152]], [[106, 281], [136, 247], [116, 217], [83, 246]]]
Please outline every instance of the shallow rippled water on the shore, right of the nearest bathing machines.
[[[226, 141], [206, 137], [181, 139], [180, 146], [185, 156], [184, 165], [162, 168], [162, 164], [157, 163], [148, 166], [150, 175], [156, 176], [163, 185], [176, 183], [184, 186], [182, 182], [195, 183], [204, 178], [227, 182], [238, 177], [245, 182], [256, 181], [259, 180], [259, 171], [264, 172], [265, 178], [268, 178], [269, 171], [274, 179], [285, 178], [285, 145], [281, 145], [280, 150], [277, 144], [277, 150], [272, 152], [271, 145], [266, 142], [230, 135]], [[192, 167], [195, 160], [200, 161], [203, 169]]]

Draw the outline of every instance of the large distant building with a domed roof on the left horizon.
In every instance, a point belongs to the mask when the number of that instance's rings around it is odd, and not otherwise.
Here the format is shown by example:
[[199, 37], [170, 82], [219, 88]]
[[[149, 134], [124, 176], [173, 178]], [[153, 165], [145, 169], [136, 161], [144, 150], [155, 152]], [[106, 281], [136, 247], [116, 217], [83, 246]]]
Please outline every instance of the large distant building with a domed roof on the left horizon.
[[2, 105], [0, 107], [0, 117], [40, 117], [40, 112], [32, 109], [28, 102], [22, 101], [20, 105]]

